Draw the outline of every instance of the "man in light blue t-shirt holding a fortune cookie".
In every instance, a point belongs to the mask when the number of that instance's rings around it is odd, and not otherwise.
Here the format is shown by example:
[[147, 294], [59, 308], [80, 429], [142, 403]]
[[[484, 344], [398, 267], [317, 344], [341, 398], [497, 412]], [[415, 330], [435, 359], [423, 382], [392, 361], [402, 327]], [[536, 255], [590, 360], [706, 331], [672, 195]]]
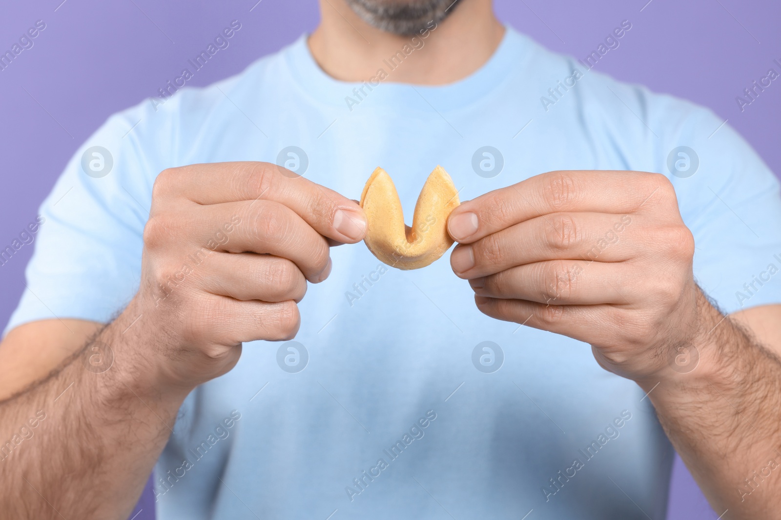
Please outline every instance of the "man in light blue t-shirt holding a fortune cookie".
[[[490, 0], [321, 9], [109, 119], [43, 203], [3, 518], [125, 518], [155, 462], [164, 520], [664, 518], [669, 441], [722, 518], [776, 518], [781, 199], [750, 147]], [[352, 199], [382, 166], [409, 221], [437, 164], [450, 265], [380, 264]]]

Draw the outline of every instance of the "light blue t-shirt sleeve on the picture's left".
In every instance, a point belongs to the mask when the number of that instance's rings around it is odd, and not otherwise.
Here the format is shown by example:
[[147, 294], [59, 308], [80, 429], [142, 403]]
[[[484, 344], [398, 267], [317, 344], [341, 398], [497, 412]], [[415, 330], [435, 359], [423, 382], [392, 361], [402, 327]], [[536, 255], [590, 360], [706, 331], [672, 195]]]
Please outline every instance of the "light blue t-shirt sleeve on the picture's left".
[[152, 108], [113, 115], [68, 162], [41, 204], [26, 288], [3, 335], [35, 320], [107, 323], [137, 292], [152, 183], [167, 161], [155, 150], [171, 135], [169, 116]]

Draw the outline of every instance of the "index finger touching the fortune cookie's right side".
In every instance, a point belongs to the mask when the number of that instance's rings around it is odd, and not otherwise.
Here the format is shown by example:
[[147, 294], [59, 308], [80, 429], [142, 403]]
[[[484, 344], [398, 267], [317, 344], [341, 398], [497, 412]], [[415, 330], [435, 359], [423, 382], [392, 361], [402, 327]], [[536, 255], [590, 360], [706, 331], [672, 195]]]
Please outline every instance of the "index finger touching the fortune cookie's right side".
[[462, 203], [448, 216], [448, 233], [456, 242], [471, 243], [551, 213], [626, 214], [662, 182], [669, 183], [664, 175], [645, 172], [547, 172]]

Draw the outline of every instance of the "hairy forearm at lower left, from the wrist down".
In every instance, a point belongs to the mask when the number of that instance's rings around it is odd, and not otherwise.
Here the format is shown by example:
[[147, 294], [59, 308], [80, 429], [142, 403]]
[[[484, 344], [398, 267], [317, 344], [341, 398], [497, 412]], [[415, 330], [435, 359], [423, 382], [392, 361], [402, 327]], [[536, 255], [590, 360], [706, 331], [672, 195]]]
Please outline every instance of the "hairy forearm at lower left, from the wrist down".
[[95, 338], [111, 345], [110, 368], [98, 363], [105, 349], [87, 345], [55, 376], [0, 404], [3, 518], [127, 518], [184, 392], [152, 391], [140, 338], [123, 334], [126, 315]]

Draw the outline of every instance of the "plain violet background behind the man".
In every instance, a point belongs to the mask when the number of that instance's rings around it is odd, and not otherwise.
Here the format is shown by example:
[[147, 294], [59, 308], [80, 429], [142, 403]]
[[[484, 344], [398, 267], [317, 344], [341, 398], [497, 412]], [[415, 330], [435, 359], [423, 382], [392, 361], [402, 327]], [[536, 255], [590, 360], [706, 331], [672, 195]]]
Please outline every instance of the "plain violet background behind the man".
[[[0, 51], [43, 19], [46, 29], [0, 71], [0, 246], [33, 221], [74, 150], [115, 111], [173, 80], [233, 19], [230, 47], [198, 71], [201, 86], [311, 31], [316, 0], [34, 0], [5, 2]], [[257, 2], [257, 3], [256, 3]], [[781, 72], [781, 4], [774, 0], [496, 0], [497, 15], [556, 51], [583, 58], [623, 19], [632, 30], [596, 68], [704, 104], [781, 172], [781, 80], [740, 111], [735, 97], [768, 69]], [[332, 9], [326, 4], [326, 9]], [[2, 249], [0, 247], [0, 249]], [[0, 324], [23, 291], [32, 246], [0, 267]], [[721, 512], [721, 511], [719, 511]], [[715, 519], [685, 466], [673, 469], [669, 519]], [[144, 490], [130, 518], [154, 518]]]

